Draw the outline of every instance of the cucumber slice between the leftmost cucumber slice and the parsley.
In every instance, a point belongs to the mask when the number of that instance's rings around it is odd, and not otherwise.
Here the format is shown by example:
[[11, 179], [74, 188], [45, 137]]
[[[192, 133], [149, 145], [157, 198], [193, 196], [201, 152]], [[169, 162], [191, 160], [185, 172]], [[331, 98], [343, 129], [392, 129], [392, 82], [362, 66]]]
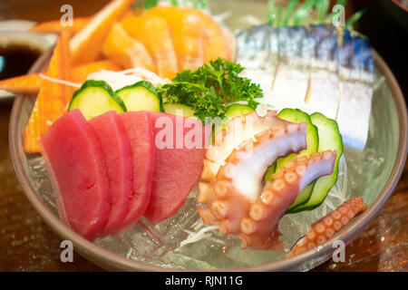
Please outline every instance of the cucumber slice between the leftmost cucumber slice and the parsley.
[[151, 82], [141, 81], [115, 92], [128, 111], [164, 111], [160, 95]]

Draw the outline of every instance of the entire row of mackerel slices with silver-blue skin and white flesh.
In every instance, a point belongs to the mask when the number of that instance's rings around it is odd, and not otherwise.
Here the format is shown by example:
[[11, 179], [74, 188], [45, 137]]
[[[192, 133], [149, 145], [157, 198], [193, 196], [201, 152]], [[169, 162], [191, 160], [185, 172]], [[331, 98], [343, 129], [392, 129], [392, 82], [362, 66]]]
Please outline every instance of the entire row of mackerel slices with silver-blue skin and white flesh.
[[241, 31], [237, 45], [237, 62], [248, 65], [243, 73], [264, 90], [260, 102], [276, 110], [320, 111], [337, 121], [345, 145], [364, 149], [374, 79], [364, 38], [329, 24], [264, 24]]

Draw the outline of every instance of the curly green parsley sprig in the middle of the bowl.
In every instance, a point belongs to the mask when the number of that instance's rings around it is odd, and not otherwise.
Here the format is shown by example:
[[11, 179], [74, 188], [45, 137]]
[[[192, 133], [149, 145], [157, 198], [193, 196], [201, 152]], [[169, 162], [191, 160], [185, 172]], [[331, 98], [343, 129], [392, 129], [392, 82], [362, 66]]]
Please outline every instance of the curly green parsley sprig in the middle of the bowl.
[[254, 109], [263, 97], [258, 84], [238, 76], [245, 68], [238, 63], [219, 58], [205, 63], [195, 71], [178, 73], [171, 83], [160, 85], [157, 92], [169, 103], [181, 103], [192, 108], [203, 123], [206, 117], [225, 118], [232, 102], [247, 102]]

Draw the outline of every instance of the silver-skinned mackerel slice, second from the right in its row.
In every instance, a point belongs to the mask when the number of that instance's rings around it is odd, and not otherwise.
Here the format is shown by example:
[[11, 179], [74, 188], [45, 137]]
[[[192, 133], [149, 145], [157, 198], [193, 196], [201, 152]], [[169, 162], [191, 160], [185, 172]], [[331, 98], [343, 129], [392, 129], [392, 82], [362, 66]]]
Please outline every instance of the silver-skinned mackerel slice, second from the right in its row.
[[316, 41], [311, 62], [310, 90], [306, 97], [309, 108], [335, 119], [339, 102], [339, 81], [336, 73], [337, 32], [335, 27], [312, 25], [309, 35]]

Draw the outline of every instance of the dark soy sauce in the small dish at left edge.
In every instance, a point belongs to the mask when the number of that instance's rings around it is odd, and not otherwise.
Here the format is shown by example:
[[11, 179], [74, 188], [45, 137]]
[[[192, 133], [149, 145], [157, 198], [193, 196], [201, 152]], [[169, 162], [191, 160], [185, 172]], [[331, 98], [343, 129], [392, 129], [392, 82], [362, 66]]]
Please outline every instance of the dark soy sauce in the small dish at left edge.
[[0, 45], [0, 80], [27, 73], [41, 53], [23, 44]]

